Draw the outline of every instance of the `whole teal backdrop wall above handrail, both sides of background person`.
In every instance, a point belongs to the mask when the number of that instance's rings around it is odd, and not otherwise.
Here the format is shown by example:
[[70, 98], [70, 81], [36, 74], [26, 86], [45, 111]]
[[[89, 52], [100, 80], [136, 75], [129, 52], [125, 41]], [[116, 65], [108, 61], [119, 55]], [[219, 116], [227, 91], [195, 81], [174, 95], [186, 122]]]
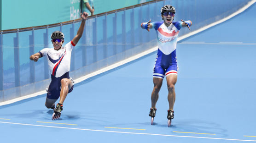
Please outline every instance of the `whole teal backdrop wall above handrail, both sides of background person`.
[[[94, 14], [150, 0], [94, 0]], [[80, 18], [80, 0], [0, 0], [0, 30], [65, 22]]]

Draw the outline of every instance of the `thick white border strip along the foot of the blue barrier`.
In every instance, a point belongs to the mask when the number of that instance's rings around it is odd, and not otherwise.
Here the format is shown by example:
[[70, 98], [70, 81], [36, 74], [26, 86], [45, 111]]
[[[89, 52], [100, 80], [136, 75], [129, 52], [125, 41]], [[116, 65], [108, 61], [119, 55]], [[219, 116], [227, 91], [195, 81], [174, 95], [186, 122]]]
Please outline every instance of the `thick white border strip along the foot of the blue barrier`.
[[[205, 27], [203, 27], [203, 28], [200, 28], [200, 29], [198, 29], [198, 30], [195, 30], [195, 31], [193, 31], [193, 32], [191, 32], [191, 33], [187, 33], [187, 34], [185, 34], [185, 35], [183, 35], [183, 36], [180, 36], [180, 37], [178, 37], [177, 41], [180, 41], [180, 40], [182, 40], [182, 39], [185, 39], [185, 38], [187, 38], [187, 37], [190, 37], [190, 36], [192, 36], [192, 35], [195, 35], [195, 34], [197, 34], [197, 33], [200, 33], [200, 32], [202, 32], [202, 31], [204, 31], [204, 30], [206, 30], [206, 29], [208, 29], [208, 28], [211, 28], [211, 27], [213, 27], [213, 26], [215, 26], [215, 25], [217, 25], [217, 24], [220, 24], [221, 22], [225, 22], [225, 21], [227, 21], [228, 19], [230, 19], [230, 18], [232, 18], [232, 17], [238, 15], [239, 13], [245, 11], [248, 7], [250, 7], [251, 5], [253, 5], [255, 2], [256, 2], [256, 0], [251, 0], [250, 2], [248, 2], [247, 5], [245, 5], [244, 7], [242, 7], [241, 9], [239, 9], [238, 11], [234, 12], [234, 13], [231, 14], [230, 16], [225, 17], [225, 18], [223, 18], [223, 19], [221, 19], [221, 20], [219, 20], [219, 21], [217, 21], [217, 22], [211, 23], [211, 24], [209, 24], [209, 25], [207, 25], [207, 26], [205, 26]], [[81, 81], [86, 80], [86, 79], [89, 78], [89, 77], [93, 77], [93, 76], [96, 76], [96, 75], [98, 75], [98, 74], [100, 74], [100, 73], [103, 73], [103, 72], [105, 72], [105, 71], [109, 71], [109, 70], [111, 70], [111, 69], [113, 69], [113, 68], [116, 68], [116, 67], [118, 67], [118, 66], [121, 66], [121, 65], [123, 65], [123, 64], [126, 64], [126, 63], [128, 63], [128, 62], [130, 62], [130, 61], [132, 61], [132, 60], [136, 60], [136, 59], [138, 59], [138, 58], [140, 58], [140, 57], [142, 57], [142, 56], [144, 56], [144, 55], [148, 55], [148, 54], [150, 54], [150, 53], [156, 51], [157, 48], [158, 48], [158, 46], [153, 47], [153, 48], [151, 48], [151, 49], [148, 49], [148, 50], [146, 50], [146, 51], [144, 51], [144, 52], [142, 52], [142, 53], [140, 53], [140, 54], [138, 54], [138, 55], [134, 55], [134, 56], [132, 56], [132, 57], [126, 59], [126, 60], [122, 60], [122, 61], [120, 61], [120, 62], [117, 62], [117, 63], [113, 64], [113, 65], [110, 65], [110, 66], [107, 66], [107, 67], [105, 67], [105, 68], [103, 68], [103, 69], [100, 69], [99, 71], [95, 71], [95, 72], [90, 73], [90, 74], [88, 74], [88, 75], [86, 75], [86, 76], [77, 78], [75, 81], [76, 81], [76, 83], [78, 83], [78, 82], [81, 82]], [[16, 98], [16, 99], [11, 99], [11, 100], [8, 100], [8, 101], [0, 102], [0, 106], [6, 105], [6, 104], [11, 104], [11, 103], [14, 103], [14, 102], [23, 100], [23, 99], [28, 99], [28, 98], [35, 97], [35, 96], [38, 96], [38, 95], [41, 95], [41, 94], [45, 94], [45, 93], [46, 93], [46, 91], [43, 90], [43, 91], [40, 91], [40, 92], [37, 92], [37, 93], [33, 93], [33, 94], [29, 94], [29, 95], [26, 95], [26, 96], [23, 96], [23, 97], [19, 97], [19, 98]]]

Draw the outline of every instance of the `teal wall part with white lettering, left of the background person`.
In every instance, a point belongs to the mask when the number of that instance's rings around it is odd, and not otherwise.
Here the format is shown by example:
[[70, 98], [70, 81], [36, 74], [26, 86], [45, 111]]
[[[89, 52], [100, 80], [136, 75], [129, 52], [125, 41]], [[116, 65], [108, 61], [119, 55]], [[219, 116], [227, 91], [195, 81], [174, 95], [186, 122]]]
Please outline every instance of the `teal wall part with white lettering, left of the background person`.
[[[73, 2], [74, 1], [74, 2]], [[80, 0], [2, 0], [2, 29], [41, 26], [79, 18]]]

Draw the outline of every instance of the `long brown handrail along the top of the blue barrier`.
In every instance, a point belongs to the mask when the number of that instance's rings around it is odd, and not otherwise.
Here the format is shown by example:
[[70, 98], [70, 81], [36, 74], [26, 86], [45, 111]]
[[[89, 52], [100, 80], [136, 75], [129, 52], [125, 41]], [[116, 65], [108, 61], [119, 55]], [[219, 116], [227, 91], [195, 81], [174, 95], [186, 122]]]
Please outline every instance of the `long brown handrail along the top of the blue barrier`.
[[[151, 1], [144, 2], [144, 3], [141, 3], [141, 4], [137, 4], [137, 5], [134, 5], [134, 6], [128, 6], [128, 7], [120, 8], [120, 9], [113, 10], [113, 11], [107, 11], [107, 12], [99, 13], [99, 14], [96, 14], [96, 15], [93, 15], [93, 16], [89, 16], [88, 19], [104, 16], [106, 14], [111, 14], [111, 13], [115, 13], [115, 12], [119, 12], [119, 11], [124, 11], [124, 10], [128, 10], [128, 9], [132, 9], [132, 8], [135, 8], [135, 7], [144, 6], [144, 5], [147, 5], [147, 4], [150, 4], [150, 3], [155, 3], [157, 1], [163, 1], [163, 0], [151, 0]], [[0, 33], [1, 34], [4, 34], [4, 33], [16, 33], [16, 32], [29, 31], [29, 30], [33, 30], [33, 29], [37, 30], [37, 29], [44, 29], [44, 28], [52, 28], [52, 27], [57, 27], [57, 26], [60, 26], [60, 25], [67, 25], [67, 24], [70, 24], [70, 23], [73, 23], [73, 22], [81, 22], [81, 21], [82, 21], [82, 19], [79, 18], [79, 19], [70, 20], [70, 21], [66, 21], [66, 22], [59, 22], [59, 23], [54, 23], [54, 24], [42, 25], [42, 26], [1, 30]]]

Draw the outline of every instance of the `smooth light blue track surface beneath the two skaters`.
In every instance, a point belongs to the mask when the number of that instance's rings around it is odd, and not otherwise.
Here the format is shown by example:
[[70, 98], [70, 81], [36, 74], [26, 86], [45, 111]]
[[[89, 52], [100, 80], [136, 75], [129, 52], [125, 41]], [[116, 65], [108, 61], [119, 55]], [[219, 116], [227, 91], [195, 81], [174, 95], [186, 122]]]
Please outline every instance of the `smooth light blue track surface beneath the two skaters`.
[[256, 142], [255, 13], [254, 4], [177, 45], [171, 127], [165, 80], [154, 125], [148, 116], [154, 52], [76, 84], [60, 120], [51, 120], [45, 95], [0, 106], [1, 143]]

